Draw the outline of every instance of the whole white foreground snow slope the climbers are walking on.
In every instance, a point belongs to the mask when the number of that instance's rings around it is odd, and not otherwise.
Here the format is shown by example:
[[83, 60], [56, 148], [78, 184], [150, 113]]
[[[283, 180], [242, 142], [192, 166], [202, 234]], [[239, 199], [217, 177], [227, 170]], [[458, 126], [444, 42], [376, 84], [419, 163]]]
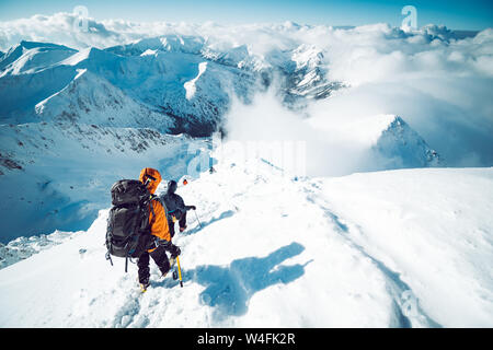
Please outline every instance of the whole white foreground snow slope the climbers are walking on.
[[[140, 294], [110, 266], [107, 210], [0, 270], [1, 327], [491, 327], [493, 168], [291, 179], [222, 160], [179, 188], [197, 206], [184, 284]], [[165, 190], [160, 186], [158, 191]]]

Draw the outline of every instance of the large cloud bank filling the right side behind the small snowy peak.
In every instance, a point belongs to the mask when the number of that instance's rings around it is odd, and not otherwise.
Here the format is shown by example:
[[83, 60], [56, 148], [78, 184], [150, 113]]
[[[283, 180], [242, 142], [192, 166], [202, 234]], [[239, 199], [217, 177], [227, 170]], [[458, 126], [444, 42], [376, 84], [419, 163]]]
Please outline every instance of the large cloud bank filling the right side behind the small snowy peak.
[[493, 32], [445, 40], [425, 31], [344, 32], [329, 50], [330, 77], [352, 88], [313, 104], [326, 122], [402, 116], [451, 166], [493, 165]]

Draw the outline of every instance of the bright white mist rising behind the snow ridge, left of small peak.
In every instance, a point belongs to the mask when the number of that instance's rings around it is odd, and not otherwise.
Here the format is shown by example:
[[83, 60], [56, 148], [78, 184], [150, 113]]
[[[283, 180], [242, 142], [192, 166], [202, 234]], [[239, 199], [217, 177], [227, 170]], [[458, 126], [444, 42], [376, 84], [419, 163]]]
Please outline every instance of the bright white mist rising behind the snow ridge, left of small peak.
[[380, 160], [368, 154], [368, 143], [354, 142], [339, 128], [310, 124], [286, 108], [273, 89], [259, 93], [251, 104], [234, 100], [226, 120], [227, 140], [234, 142], [237, 161], [262, 158], [293, 175], [310, 176], [383, 168]]

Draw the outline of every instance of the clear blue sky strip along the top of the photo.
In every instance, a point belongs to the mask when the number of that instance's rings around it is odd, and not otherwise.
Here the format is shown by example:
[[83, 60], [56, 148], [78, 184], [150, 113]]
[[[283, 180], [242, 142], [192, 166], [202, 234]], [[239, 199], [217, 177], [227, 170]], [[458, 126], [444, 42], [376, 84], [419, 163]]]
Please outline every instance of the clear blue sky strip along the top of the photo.
[[33, 14], [72, 12], [84, 5], [96, 20], [195, 22], [222, 24], [294, 21], [300, 24], [362, 25], [387, 22], [400, 25], [401, 9], [414, 5], [417, 25], [445, 24], [454, 30], [493, 27], [491, 0], [0, 0], [0, 21]]

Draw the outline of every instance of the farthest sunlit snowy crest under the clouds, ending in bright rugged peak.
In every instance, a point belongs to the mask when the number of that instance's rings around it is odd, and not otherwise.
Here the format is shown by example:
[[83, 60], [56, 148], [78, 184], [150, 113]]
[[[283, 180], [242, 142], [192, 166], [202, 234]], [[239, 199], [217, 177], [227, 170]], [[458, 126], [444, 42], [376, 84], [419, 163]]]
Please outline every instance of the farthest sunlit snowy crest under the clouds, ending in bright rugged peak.
[[[197, 36], [164, 35], [137, 43], [107, 48], [123, 56], [149, 55], [158, 51], [193, 54], [221, 66], [256, 73], [256, 80], [268, 86], [282, 80], [285, 100], [293, 104], [297, 96], [323, 98], [341, 89], [341, 82], [328, 81], [323, 50], [316, 45], [294, 45], [289, 49], [272, 49], [266, 55], [249, 50], [246, 45], [221, 45]], [[240, 94], [241, 96], [241, 94]]]

